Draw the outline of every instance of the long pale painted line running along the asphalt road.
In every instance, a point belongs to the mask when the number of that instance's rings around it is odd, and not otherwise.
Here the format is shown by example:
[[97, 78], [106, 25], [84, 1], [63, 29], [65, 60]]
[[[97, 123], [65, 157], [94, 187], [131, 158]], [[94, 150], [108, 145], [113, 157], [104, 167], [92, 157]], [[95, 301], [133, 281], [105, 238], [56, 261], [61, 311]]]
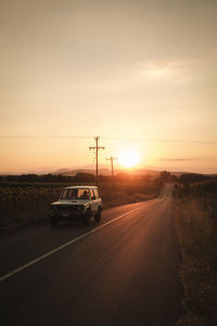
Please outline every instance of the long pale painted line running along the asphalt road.
[[[142, 205], [141, 205], [141, 206], [142, 206]], [[62, 250], [62, 249], [68, 247], [69, 244], [72, 244], [72, 243], [74, 243], [74, 242], [77, 242], [78, 240], [80, 240], [80, 239], [82, 239], [82, 238], [85, 238], [85, 237], [87, 237], [87, 236], [89, 236], [89, 235], [91, 235], [91, 234], [97, 233], [99, 229], [105, 227], [106, 225], [112, 224], [113, 222], [115, 222], [115, 221], [117, 221], [117, 220], [119, 220], [119, 218], [122, 218], [122, 217], [124, 217], [124, 216], [126, 216], [126, 215], [129, 215], [129, 214], [132, 213], [132, 212], [136, 212], [136, 211], [140, 210], [141, 206], [139, 206], [139, 208], [137, 208], [137, 209], [133, 209], [133, 210], [131, 210], [131, 211], [129, 211], [129, 212], [127, 212], [127, 213], [125, 213], [125, 214], [123, 214], [123, 215], [119, 215], [119, 216], [117, 216], [117, 217], [115, 217], [115, 218], [113, 218], [113, 220], [111, 220], [111, 221], [108, 221], [108, 222], [106, 222], [106, 223], [104, 223], [104, 224], [98, 226], [97, 228], [94, 228], [94, 229], [92, 229], [92, 230], [90, 230], [90, 231], [88, 231], [88, 233], [86, 233], [86, 234], [84, 234], [84, 235], [81, 235], [81, 236], [79, 236], [79, 237], [77, 237], [77, 238], [75, 238], [75, 239], [73, 239], [73, 240], [71, 240], [71, 241], [68, 241], [68, 242], [66, 242], [66, 243], [64, 243], [64, 244], [62, 244], [62, 246], [60, 246], [60, 247], [58, 247], [58, 248], [55, 248], [55, 249], [49, 251], [49, 252], [47, 252], [47, 253], [44, 253], [44, 254], [42, 254], [42, 255], [40, 255], [39, 258], [35, 259], [34, 261], [30, 261], [29, 263], [24, 264], [23, 266], [21, 266], [21, 267], [14, 269], [14, 271], [12, 271], [12, 272], [10, 272], [10, 273], [8, 273], [8, 274], [1, 276], [1, 277], [0, 277], [0, 281], [2, 281], [2, 280], [4, 280], [4, 279], [7, 279], [7, 278], [9, 278], [9, 277], [11, 277], [11, 276], [13, 276], [13, 275], [15, 275], [15, 274], [17, 274], [18, 272], [21, 272], [21, 271], [23, 271], [23, 269], [26, 269], [27, 267], [29, 267], [29, 266], [31, 266], [31, 265], [34, 265], [34, 264], [36, 264], [36, 263], [38, 263], [38, 262], [44, 260], [47, 256], [49, 256], [49, 255], [51, 255], [51, 254], [53, 254], [53, 253], [55, 253], [55, 252], [58, 252], [58, 251], [60, 251], [60, 250]]]

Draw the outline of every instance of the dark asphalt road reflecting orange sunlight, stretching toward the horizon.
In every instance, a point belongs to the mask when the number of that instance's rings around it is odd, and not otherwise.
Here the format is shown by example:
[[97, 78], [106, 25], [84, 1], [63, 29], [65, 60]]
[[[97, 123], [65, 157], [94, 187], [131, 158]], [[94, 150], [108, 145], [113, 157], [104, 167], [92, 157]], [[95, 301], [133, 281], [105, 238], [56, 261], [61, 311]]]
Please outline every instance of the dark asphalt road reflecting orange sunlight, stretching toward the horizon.
[[0, 236], [0, 325], [174, 326], [181, 314], [171, 187], [102, 222]]

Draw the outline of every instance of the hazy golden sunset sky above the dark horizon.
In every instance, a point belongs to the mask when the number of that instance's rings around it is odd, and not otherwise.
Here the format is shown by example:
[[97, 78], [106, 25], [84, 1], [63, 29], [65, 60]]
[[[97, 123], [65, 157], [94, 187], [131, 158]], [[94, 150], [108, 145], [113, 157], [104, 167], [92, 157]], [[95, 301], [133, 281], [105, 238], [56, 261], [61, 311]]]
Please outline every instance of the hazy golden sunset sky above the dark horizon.
[[101, 164], [130, 150], [217, 173], [216, 15], [216, 0], [0, 0], [0, 173], [90, 166], [95, 136]]

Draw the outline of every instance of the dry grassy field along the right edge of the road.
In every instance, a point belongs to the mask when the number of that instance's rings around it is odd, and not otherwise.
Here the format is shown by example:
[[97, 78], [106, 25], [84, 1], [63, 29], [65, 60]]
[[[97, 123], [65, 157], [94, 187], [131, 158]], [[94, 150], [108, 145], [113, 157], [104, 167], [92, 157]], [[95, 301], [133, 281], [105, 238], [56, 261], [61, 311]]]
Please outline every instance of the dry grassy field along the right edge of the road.
[[182, 255], [183, 316], [178, 326], [217, 325], [217, 180], [175, 189]]

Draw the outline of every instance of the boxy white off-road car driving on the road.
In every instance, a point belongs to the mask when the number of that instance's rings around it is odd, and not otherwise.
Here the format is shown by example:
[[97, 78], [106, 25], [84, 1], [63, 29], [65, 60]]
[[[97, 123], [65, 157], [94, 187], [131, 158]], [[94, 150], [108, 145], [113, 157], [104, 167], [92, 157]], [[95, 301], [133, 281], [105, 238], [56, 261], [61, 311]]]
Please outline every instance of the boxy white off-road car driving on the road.
[[80, 220], [85, 226], [94, 216], [100, 222], [102, 199], [95, 186], [72, 186], [62, 190], [59, 201], [51, 204], [51, 225], [56, 226], [60, 221]]

